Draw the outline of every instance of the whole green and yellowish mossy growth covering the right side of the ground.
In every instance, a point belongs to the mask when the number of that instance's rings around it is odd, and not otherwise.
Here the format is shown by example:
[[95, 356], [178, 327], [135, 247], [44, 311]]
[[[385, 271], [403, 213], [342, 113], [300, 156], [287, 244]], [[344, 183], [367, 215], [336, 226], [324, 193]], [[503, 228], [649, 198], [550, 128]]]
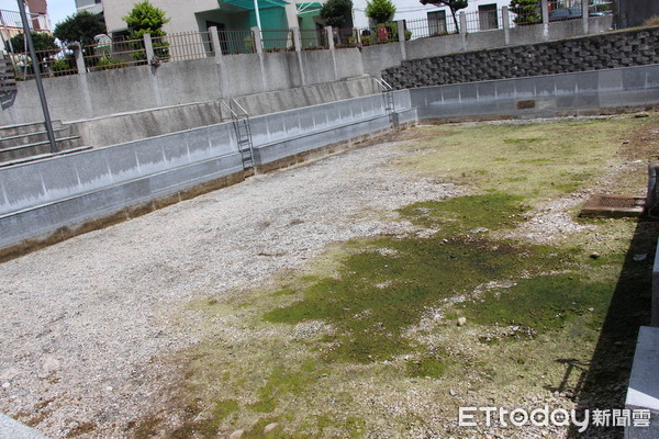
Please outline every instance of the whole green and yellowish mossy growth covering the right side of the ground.
[[[476, 431], [456, 426], [459, 406], [619, 404], [651, 270], [629, 254], [651, 254], [657, 227], [576, 219], [582, 232], [551, 245], [514, 230], [543, 203], [636, 158], [623, 157], [622, 139], [658, 119], [407, 133], [414, 142], [393, 169], [471, 194], [396, 212], [424, 233], [339, 244], [273, 288], [193, 303], [208, 337], [181, 353], [188, 372], [175, 399], [188, 412], [170, 437], [264, 437], [277, 423], [268, 437], [459, 438]], [[606, 184], [641, 173], [623, 170]], [[621, 297], [626, 307], [613, 313]], [[245, 337], [222, 339], [213, 318]], [[135, 436], [164, 425], [154, 417]]]

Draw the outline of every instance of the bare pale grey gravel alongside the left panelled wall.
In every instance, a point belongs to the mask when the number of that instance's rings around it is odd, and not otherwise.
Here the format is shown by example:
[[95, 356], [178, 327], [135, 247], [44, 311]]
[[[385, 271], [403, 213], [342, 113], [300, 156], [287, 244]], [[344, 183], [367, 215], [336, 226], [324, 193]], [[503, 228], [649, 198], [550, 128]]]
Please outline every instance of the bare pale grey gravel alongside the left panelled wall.
[[410, 230], [393, 210], [466, 193], [388, 166], [403, 142], [256, 176], [0, 264], [0, 412], [53, 438], [123, 437], [167, 386], [153, 359], [196, 342], [171, 309], [267, 282], [331, 243]]

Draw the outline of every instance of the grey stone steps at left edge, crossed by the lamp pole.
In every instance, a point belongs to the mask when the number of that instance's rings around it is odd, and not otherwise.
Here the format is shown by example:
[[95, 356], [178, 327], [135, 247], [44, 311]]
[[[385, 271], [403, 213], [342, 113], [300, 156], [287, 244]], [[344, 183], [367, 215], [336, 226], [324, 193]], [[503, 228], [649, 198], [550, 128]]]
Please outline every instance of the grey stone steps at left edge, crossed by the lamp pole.
[[44, 123], [0, 126], [0, 167], [24, 164], [63, 154], [89, 149], [80, 146], [80, 136], [70, 134], [70, 127], [62, 121], [53, 121], [57, 153], [51, 151], [51, 143]]

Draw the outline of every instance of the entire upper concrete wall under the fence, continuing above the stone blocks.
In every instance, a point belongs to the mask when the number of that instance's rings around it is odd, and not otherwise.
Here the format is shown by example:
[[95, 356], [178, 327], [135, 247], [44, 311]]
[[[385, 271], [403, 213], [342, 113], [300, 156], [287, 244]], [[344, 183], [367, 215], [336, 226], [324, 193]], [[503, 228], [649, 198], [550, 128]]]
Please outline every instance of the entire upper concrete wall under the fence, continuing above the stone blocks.
[[[611, 26], [611, 18], [589, 19], [589, 32]], [[513, 27], [510, 41], [504, 31], [415, 40], [335, 50], [305, 50], [232, 55], [138, 66], [59, 78], [46, 78], [44, 87], [53, 119], [65, 122], [261, 94], [261, 103], [275, 111], [268, 93], [334, 82], [400, 66], [404, 59], [442, 56], [456, 52], [511, 44], [530, 44], [583, 34], [581, 20]], [[403, 57], [403, 53], [406, 54]], [[43, 115], [34, 82], [19, 82], [18, 91], [0, 95], [0, 125], [40, 122]], [[263, 114], [253, 112], [252, 114]], [[107, 143], [105, 143], [107, 144]]]

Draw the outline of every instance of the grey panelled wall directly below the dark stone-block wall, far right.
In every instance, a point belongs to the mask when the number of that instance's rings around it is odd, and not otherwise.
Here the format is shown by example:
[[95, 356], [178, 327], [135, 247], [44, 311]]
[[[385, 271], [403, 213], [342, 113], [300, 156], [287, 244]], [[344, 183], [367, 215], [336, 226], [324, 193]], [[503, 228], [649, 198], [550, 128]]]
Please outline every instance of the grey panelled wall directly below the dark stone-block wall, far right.
[[551, 117], [659, 103], [659, 65], [410, 90], [420, 119]]

